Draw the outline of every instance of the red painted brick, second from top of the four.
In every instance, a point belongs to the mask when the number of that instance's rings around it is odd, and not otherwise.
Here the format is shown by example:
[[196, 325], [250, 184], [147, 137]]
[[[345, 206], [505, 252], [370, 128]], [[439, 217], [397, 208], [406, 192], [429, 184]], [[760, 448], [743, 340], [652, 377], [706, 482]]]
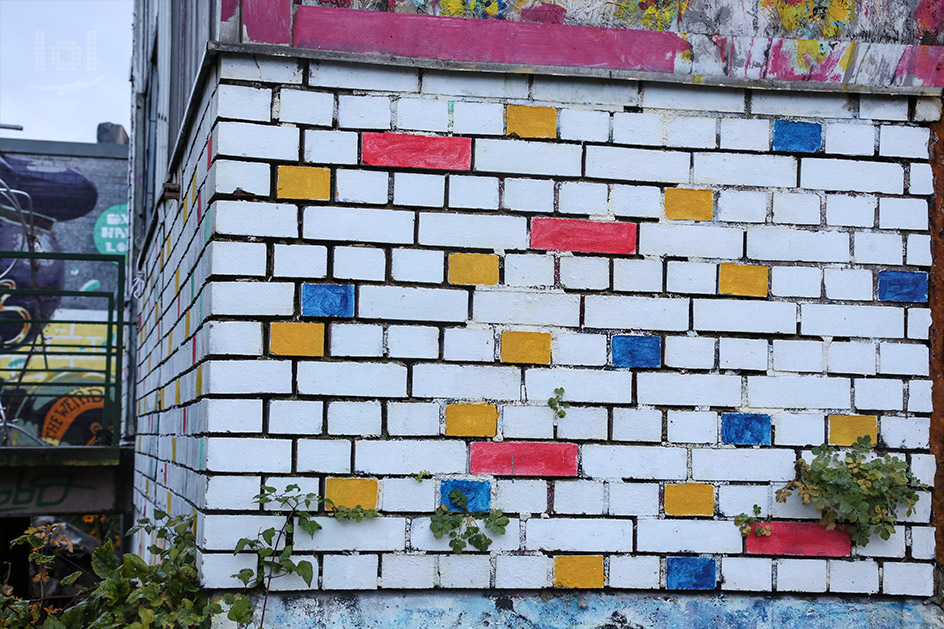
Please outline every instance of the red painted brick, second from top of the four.
[[531, 248], [583, 253], [636, 253], [636, 223], [535, 218], [531, 220]]

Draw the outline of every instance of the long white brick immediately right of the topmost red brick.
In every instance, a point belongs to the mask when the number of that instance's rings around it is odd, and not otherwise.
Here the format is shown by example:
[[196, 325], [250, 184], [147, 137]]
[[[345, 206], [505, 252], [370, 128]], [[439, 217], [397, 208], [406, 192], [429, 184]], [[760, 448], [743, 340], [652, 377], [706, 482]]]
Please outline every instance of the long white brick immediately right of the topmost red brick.
[[525, 140], [475, 142], [475, 170], [527, 175], [564, 175], [580, 173], [581, 149], [575, 144], [549, 144]]

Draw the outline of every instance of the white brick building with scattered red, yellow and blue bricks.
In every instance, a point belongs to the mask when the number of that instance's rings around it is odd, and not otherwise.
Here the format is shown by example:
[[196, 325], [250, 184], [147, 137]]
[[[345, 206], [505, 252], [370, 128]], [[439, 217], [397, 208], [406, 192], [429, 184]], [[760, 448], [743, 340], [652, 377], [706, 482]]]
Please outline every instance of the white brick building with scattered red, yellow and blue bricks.
[[[272, 626], [941, 622], [937, 3], [321, 4], [137, 3], [135, 501], [208, 587], [297, 484], [379, 515]], [[776, 500], [863, 437], [887, 539]]]

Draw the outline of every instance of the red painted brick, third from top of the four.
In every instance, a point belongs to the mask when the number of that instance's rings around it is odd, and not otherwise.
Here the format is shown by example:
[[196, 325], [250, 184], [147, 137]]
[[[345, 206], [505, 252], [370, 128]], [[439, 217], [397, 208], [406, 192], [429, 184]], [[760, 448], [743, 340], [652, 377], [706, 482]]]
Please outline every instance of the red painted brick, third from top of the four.
[[478, 441], [471, 446], [473, 474], [576, 476], [577, 444]]

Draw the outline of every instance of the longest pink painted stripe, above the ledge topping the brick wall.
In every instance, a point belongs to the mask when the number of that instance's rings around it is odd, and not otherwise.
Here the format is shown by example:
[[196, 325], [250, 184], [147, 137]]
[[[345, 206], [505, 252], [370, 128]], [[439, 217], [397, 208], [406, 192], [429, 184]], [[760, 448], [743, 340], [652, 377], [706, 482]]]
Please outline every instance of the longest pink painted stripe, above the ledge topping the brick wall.
[[671, 73], [691, 44], [677, 33], [299, 6], [301, 48], [448, 61]]

